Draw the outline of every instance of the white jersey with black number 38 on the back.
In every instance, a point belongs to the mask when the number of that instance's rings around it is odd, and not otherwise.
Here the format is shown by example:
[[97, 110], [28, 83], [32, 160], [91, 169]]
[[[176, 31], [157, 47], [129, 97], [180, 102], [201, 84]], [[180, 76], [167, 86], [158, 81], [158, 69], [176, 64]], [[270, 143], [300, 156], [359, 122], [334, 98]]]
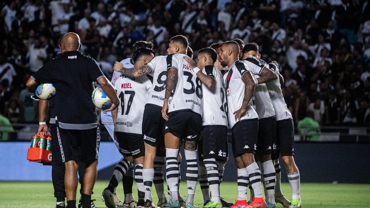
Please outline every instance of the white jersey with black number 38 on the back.
[[169, 103], [168, 113], [191, 110], [202, 116], [202, 82], [188, 66], [184, 56], [186, 54], [171, 54], [167, 56], [167, 70], [176, 68], [178, 75], [174, 95]]

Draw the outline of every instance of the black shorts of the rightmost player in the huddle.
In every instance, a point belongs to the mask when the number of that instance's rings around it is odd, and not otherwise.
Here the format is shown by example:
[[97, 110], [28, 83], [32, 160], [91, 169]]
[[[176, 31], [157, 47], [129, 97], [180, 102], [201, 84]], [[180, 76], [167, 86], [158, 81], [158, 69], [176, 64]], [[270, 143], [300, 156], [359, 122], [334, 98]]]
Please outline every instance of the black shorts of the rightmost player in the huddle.
[[271, 158], [278, 159], [280, 154], [294, 155], [294, 124], [291, 118], [276, 121], [276, 152], [271, 154]]

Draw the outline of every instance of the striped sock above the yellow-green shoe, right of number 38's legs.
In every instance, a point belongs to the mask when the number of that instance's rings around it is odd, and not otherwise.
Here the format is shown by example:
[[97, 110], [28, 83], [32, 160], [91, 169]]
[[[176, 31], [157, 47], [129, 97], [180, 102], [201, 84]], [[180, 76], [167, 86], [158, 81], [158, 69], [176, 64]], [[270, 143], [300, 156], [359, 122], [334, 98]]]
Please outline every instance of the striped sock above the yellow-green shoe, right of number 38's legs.
[[220, 186], [219, 186], [219, 174], [216, 165], [216, 159], [204, 159], [204, 165], [207, 168], [208, 184], [211, 189], [212, 201], [220, 203]]

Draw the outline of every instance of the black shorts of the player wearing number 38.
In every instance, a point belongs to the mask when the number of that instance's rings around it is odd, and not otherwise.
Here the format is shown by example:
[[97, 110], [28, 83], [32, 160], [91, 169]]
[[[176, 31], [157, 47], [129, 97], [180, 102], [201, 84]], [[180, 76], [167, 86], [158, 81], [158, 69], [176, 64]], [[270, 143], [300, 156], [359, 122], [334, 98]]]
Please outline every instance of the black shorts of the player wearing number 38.
[[165, 134], [171, 133], [175, 137], [186, 141], [197, 141], [202, 128], [202, 117], [191, 110], [175, 111], [168, 114], [165, 122]]

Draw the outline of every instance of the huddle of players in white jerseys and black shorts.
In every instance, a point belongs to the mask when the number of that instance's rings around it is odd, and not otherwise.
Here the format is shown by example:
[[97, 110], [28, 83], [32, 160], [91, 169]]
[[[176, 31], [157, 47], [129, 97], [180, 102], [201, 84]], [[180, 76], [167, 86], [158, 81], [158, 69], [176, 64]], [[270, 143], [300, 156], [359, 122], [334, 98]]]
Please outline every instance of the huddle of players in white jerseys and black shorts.
[[[284, 80], [277, 63], [266, 63], [260, 59], [256, 43], [244, 45], [240, 39], [202, 48], [198, 63], [192, 60], [193, 51], [182, 35], [170, 39], [168, 56], [154, 57], [152, 48], [152, 43], [138, 41], [132, 47], [132, 58], [114, 64], [111, 83], [120, 105], [111, 112], [101, 111], [101, 121], [124, 159], [102, 192], [105, 205], [155, 208], [151, 194], [154, 183], [158, 207], [194, 208], [199, 180], [203, 208], [274, 208], [275, 202], [302, 207], [299, 171], [293, 160], [292, 115], [280, 88]], [[229, 155], [228, 126], [238, 168], [235, 204], [220, 196]], [[187, 165], [186, 200], [179, 194], [182, 144]], [[280, 189], [280, 154], [292, 188], [291, 202]], [[168, 199], [163, 187], [164, 165]], [[138, 201], [131, 191], [133, 168]], [[124, 182], [125, 198], [121, 201], [115, 189], [127, 177], [131, 182]]]

